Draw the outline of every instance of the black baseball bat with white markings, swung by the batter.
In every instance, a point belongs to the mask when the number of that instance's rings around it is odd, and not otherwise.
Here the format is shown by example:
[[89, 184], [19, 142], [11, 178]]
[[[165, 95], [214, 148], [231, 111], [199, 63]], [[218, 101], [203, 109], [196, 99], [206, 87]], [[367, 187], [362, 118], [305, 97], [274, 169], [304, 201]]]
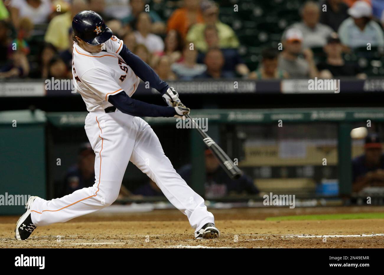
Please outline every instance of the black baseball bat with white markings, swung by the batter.
[[[185, 115], [185, 117], [189, 118], [194, 125], [197, 125], [195, 120], [193, 120], [189, 115]], [[216, 142], [209, 137], [209, 135], [203, 132], [203, 130], [199, 127], [199, 125], [197, 125], [197, 127], [194, 127], [194, 128], [197, 130], [197, 132], [199, 132], [205, 145], [207, 145], [209, 150], [211, 150], [211, 152], [218, 159], [220, 166], [224, 169], [225, 172], [227, 172], [228, 176], [231, 179], [240, 178], [243, 172], [236, 165], [233, 164], [232, 160], [223, 151], [223, 149], [220, 148], [220, 146], [218, 146]]]

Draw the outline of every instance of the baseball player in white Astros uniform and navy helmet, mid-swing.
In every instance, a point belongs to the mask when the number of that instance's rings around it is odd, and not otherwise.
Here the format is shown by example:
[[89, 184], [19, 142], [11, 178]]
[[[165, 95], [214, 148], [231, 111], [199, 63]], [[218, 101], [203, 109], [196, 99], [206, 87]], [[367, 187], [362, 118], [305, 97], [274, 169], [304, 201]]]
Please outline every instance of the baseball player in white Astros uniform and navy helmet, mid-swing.
[[[219, 237], [204, 198], [176, 172], [155, 132], [141, 118], [184, 118], [190, 109], [180, 102], [174, 88], [113, 35], [98, 13], [79, 12], [72, 28], [73, 82], [88, 110], [84, 130], [96, 156], [95, 183], [53, 200], [30, 197], [26, 212], [16, 223], [15, 238], [26, 240], [37, 227], [66, 222], [111, 205], [118, 197], [129, 162], [146, 173], [170, 203], [187, 216], [195, 238]], [[168, 106], [131, 98], [140, 80], [149, 82]]]

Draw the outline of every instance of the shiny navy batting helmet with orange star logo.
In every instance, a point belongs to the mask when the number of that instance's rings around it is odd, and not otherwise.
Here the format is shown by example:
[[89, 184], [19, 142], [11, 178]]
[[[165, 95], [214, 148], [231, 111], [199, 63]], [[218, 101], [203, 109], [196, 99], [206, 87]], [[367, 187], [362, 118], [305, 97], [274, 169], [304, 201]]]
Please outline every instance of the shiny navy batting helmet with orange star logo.
[[113, 34], [103, 18], [92, 10], [83, 10], [76, 14], [72, 20], [72, 28], [77, 37], [92, 46], [106, 42]]

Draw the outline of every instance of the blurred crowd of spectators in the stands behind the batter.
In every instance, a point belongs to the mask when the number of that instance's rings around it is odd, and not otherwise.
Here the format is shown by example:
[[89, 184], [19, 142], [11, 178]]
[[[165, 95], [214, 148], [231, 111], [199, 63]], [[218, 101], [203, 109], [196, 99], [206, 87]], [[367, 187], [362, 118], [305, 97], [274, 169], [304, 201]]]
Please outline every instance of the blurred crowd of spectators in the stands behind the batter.
[[[171, 6], [173, 12], [164, 18], [153, 4]], [[164, 80], [366, 78], [360, 64], [345, 55], [362, 48], [364, 56], [364, 49], [384, 47], [383, 9], [384, 1], [377, 0], [303, 2], [301, 21], [286, 27], [280, 46], [264, 48], [250, 70], [237, 33], [220, 21], [220, 1], [4, 0], [0, 78], [72, 78], [71, 21], [81, 10], [99, 13]]]

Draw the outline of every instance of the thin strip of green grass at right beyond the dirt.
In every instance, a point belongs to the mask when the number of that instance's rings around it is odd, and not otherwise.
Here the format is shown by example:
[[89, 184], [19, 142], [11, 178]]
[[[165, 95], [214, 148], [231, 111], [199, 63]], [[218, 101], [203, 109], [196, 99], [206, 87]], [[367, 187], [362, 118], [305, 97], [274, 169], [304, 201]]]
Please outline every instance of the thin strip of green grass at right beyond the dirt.
[[280, 220], [351, 220], [351, 219], [384, 219], [384, 213], [296, 215], [296, 216], [268, 217], [265, 220], [280, 221]]

